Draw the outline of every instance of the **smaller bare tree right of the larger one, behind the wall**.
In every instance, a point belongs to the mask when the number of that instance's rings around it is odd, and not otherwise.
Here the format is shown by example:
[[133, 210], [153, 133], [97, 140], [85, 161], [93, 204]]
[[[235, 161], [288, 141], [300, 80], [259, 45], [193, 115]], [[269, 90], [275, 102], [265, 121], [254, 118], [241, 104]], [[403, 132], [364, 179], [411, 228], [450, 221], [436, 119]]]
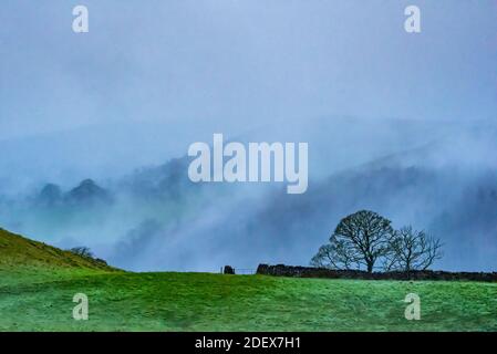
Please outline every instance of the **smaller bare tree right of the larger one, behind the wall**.
[[391, 248], [385, 258], [386, 270], [426, 270], [433, 262], [441, 259], [442, 243], [425, 231], [414, 230], [411, 226], [395, 232]]

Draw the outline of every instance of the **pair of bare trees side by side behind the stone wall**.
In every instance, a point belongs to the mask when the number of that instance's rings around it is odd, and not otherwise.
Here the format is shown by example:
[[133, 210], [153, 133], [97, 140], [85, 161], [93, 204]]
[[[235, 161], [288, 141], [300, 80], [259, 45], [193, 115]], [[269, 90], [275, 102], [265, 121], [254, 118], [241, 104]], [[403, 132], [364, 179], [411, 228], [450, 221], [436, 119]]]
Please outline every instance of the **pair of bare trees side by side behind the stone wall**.
[[426, 270], [441, 259], [442, 243], [412, 226], [393, 229], [392, 221], [371, 210], [343, 218], [320, 247], [311, 266], [335, 270]]

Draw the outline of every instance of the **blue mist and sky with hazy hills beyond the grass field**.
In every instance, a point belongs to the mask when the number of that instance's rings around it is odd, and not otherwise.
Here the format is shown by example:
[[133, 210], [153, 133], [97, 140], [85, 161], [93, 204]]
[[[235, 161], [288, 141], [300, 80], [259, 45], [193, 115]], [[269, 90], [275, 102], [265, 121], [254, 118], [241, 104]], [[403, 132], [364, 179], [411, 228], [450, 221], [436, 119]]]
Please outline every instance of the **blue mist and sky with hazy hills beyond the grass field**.
[[[75, 34], [72, 4], [2, 2], [0, 227], [217, 271], [306, 266], [366, 208], [441, 238], [434, 268], [496, 270], [495, 1], [420, 1], [420, 34], [406, 1], [86, 4]], [[191, 184], [214, 133], [309, 143], [308, 191]]]

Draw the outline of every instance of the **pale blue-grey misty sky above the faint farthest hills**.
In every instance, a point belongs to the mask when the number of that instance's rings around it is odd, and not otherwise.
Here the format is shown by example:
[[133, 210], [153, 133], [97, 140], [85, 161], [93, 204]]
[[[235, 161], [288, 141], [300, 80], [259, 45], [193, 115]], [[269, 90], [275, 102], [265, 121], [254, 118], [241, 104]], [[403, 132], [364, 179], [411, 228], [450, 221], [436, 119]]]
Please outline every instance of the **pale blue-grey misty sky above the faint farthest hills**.
[[[420, 34], [403, 29], [412, 3]], [[76, 4], [90, 33], [72, 32]], [[496, 59], [490, 0], [3, 0], [0, 140], [143, 121], [488, 119]]]

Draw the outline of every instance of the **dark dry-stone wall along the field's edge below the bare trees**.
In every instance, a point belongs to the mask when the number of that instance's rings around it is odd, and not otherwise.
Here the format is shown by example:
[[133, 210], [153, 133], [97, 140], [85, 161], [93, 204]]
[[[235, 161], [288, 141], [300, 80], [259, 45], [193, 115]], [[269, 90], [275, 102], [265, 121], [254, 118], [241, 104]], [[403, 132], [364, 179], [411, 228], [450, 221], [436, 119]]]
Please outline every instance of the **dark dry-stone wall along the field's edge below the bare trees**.
[[292, 267], [284, 264], [259, 264], [257, 274], [296, 278], [329, 278], [329, 279], [369, 279], [369, 280], [470, 280], [497, 281], [497, 272], [446, 272], [446, 271], [412, 271], [406, 272], [373, 272], [359, 270], [331, 270], [324, 268]]

